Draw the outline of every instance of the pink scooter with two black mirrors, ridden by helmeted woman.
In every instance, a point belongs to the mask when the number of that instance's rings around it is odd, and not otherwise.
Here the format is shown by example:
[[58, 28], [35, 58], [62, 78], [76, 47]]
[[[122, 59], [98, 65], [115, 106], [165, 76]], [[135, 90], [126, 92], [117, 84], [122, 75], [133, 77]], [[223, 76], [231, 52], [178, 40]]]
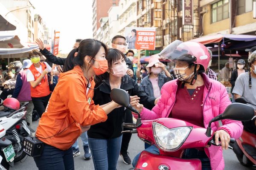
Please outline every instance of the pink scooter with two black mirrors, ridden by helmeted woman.
[[[233, 103], [219, 116], [209, 122], [207, 129], [189, 122], [173, 118], [160, 118], [141, 122], [140, 113], [130, 105], [129, 94], [122, 89], [112, 89], [111, 99], [138, 114], [136, 124], [123, 123], [127, 130], [122, 133], [138, 133], [138, 137], [149, 144], [155, 144], [160, 155], [143, 151], [136, 167], [130, 170], [201, 170], [199, 159], [182, 159], [183, 151], [188, 148], [204, 148], [216, 145], [211, 123], [221, 119], [246, 121], [254, 116], [254, 109], [241, 103]], [[235, 142], [231, 139], [230, 142]], [[229, 147], [232, 149], [232, 147]]]

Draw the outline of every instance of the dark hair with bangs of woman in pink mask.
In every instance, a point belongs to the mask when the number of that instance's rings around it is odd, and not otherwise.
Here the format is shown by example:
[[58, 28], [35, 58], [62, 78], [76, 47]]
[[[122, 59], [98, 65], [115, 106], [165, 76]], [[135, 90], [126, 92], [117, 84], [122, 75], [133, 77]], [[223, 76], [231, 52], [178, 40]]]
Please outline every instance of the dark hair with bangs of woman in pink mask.
[[[112, 63], [122, 58], [125, 59], [125, 55], [121, 51], [115, 48], [110, 48], [108, 50], [108, 54], [106, 55], [106, 59], [108, 60], [108, 67], [112, 68]], [[108, 72], [101, 74], [99, 76], [95, 76], [96, 86], [99, 85], [102, 82], [102, 80], [108, 79], [108, 77], [109, 77]]]

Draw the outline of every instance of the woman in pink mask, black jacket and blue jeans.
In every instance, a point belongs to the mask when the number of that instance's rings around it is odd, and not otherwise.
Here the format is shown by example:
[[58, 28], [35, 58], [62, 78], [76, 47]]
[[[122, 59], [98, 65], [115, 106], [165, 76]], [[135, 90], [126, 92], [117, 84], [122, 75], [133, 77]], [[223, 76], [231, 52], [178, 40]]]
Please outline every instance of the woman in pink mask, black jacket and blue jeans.
[[[117, 49], [111, 48], [106, 59], [108, 60], [109, 69], [108, 72], [97, 76], [95, 79], [95, 87], [99, 88], [94, 90], [94, 103], [99, 105], [107, 104], [111, 101], [111, 89], [122, 88], [130, 94], [132, 105], [135, 105], [140, 99], [140, 102], [146, 107], [153, 107], [155, 98], [147, 96], [139, 88], [135, 80], [126, 74], [124, 54]], [[105, 82], [102, 80], [105, 80]], [[102, 84], [102, 82], [104, 83]], [[122, 123], [127, 114], [126, 111], [127, 109], [124, 107], [116, 108], [108, 114], [106, 122], [93, 125], [88, 130], [88, 142], [95, 170], [116, 170], [122, 143]]]

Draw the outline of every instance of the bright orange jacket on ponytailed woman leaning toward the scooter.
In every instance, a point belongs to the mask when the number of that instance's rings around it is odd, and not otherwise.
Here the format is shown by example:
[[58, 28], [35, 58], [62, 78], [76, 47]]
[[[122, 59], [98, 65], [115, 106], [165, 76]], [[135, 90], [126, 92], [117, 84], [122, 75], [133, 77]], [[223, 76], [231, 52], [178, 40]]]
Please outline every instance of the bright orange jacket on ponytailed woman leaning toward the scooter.
[[[93, 78], [90, 79], [94, 88]], [[105, 122], [105, 111], [94, 105], [93, 90], [86, 94], [86, 79], [79, 66], [62, 73], [46, 112], [43, 113], [36, 136], [38, 139], [61, 150], [69, 149], [81, 134], [81, 126]]]

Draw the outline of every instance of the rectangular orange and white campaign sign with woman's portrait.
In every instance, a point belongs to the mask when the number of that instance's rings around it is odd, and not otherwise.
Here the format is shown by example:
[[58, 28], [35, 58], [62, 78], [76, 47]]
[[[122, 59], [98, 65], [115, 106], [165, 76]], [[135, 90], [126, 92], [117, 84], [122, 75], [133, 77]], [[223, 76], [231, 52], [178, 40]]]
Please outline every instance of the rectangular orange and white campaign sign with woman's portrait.
[[156, 28], [125, 27], [128, 49], [155, 50]]

